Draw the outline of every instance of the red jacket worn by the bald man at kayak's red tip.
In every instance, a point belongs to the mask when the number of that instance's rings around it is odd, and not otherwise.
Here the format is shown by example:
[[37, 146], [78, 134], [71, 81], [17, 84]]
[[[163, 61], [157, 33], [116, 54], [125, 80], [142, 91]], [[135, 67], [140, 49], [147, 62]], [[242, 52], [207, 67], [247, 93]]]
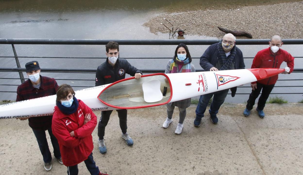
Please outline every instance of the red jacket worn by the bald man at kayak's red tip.
[[[287, 63], [287, 66], [290, 68], [291, 73], [294, 70], [294, 57], [291, 56], [290, 53], [288, 53], [285, 50], [282, 50], [281, 48], [278, 50], [278, 52], [274, 55], [270, 47], [267, 49], [260, 50], [254, 60], [252, 61], [251, 69], [253, 68], [280, 68], [283, 61]], [[264, 84], [264, 85], [271, 85], [275, 84], [277, 82], [278, 75], [261, 79], [258, 81], [258, 83]], [[253, 82], [255, 84], [256, 82]]]

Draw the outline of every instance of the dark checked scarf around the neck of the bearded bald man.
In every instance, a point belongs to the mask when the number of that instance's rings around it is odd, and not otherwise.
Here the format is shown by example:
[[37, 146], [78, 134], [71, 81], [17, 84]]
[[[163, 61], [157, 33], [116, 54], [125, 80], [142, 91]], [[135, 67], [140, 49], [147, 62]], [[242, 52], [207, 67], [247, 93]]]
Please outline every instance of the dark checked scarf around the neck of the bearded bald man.
[[219, 55], [221, 56], [221, 59], [219, 59], [220, 64], [221, 64], [220, 70], [230, 70], [230, 65], [234, 61], [235, 55], [236, 55], [236, 44], [231, 49], [229, 58], [226, 57], [226, 54], [225, 54], [221, 44], [222, 44], [222, 41], [220, 41], [218, 43]]

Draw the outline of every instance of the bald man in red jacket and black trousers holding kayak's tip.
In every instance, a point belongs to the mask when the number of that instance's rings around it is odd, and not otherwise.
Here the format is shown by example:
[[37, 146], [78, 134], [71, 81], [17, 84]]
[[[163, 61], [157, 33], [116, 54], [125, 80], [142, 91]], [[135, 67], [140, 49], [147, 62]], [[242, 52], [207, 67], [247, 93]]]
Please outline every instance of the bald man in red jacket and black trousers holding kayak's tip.
[[[287, 66], [290, 68], [290, 71], [285, 71], [284, 74], [291, 73], [294, 70], [295, 58], [292, 57], [290, 53], [280, 48], [282, 44], [283, 43], [280, 36], [272, 36], [269, 42], [270, 47], [268, 47], [267, 49], [263, 49], [256, 54], [251, 65], [251, 69], [280, 68], [281, 63], [285, 61], [287, 63]], [[277, 79], [278, 75], [275, 75], [267, 79], [262, 79], [260, 81], [251, 83], [252, 91], [249, 95], [249, 99], [247, 100], [246, 109], [244, 109], [243, 112], [245, 117], [248, 117], [248, 115], [250, 114], [252, 107], [255, 105], [255, 100], [258, 98], [261, 89], [263, 89], [256, 110], [258, 112], [259, 117], [264, 118], [265, 114], [263, 112], [263, 109], [265, 107], [266, 100], [268, 99], [271, 90], [274, 88], [275, 83], [277, 82]]]

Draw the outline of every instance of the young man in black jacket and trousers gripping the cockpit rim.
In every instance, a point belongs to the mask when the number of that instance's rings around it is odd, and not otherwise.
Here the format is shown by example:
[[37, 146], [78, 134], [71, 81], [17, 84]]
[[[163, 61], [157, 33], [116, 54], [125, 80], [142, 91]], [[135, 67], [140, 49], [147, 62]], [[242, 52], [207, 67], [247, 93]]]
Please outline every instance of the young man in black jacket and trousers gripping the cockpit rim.
[[[114, 83], [125, 78], [125, 73], [135, 76], [135, 79], [141, 78], [142, 72], [128, 63], [127, 60], [118, 58], [119, 44], [114, 41], [108, 42], [105, 46], [106, 56], [108, 57], [104, 63], [98, 66], [96, 72], [95, 86], [101, 86], [109, 83]], [[126, 144], [131, 146], [133, 144], [132, 138], [127, 131], [127, 109], [118, 109], [120, 128], [122, 131], [122, 138]], [[104, 142], [105, 127], [108, 123], [109, 117], [112, 114], [110, 111], [102, 111], [101, 118], [98, 123], [98, 146], [100, 153], [106, 153], [106, 146]]]

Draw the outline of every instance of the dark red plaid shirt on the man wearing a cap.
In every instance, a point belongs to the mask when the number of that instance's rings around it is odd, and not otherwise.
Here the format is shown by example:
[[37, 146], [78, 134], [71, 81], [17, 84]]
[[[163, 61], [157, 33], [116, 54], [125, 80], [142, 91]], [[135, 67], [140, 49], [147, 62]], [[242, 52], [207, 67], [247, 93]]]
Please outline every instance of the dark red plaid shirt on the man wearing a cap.
[[[55, 79], [41, 76], [41, 84], [39, 89], [32, 85], [31, 80], [26, 80], [17, 88], [16, 102], [22, 100], [35, 99], [39, 97], [55, 95], [58, 89], [58, 84]], [[54, 104], [55, 106], [55, 104]], [[37, 130], [47, 130], [52, 126], [52, 115], [32, 117], [28, 119], [28, 125]]]

